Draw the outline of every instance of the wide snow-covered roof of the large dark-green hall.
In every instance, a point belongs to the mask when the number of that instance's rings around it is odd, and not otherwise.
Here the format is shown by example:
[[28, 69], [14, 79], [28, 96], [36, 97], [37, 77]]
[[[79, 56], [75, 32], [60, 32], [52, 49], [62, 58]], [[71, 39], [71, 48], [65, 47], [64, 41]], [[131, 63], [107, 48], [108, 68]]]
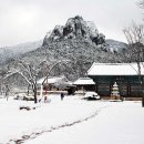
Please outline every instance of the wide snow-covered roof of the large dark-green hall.
[[[141, 74], [144, 75], [144, 63], [141, 63]], [[137, 75], [137, 63], [93, 63], [88, 75]]]

